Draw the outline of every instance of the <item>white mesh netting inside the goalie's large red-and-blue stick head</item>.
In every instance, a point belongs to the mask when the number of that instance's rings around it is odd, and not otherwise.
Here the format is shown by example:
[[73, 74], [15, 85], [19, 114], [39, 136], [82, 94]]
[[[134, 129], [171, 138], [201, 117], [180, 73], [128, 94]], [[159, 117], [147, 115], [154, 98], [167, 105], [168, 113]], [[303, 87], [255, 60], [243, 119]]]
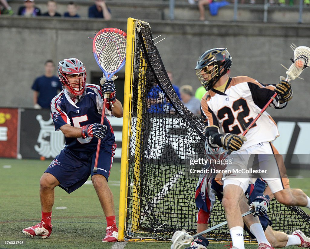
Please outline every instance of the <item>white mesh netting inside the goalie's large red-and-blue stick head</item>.
[[103, 32], [95, 37], [96, 55], [107, 73], [115, 72], [126, 57], [126, 37], [114, 32]]

